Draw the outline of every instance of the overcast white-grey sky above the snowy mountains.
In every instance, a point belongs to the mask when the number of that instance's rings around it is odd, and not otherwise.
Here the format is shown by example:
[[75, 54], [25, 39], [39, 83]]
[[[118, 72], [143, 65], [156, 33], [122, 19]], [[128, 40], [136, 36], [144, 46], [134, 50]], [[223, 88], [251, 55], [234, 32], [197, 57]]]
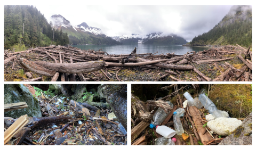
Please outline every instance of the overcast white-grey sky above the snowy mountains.
[[177, 34], [187, 41], [209, 31], [231, 5], [35, 5], [47, 20], [60, 14], [73, 25], [86, 22], [107, 36]]

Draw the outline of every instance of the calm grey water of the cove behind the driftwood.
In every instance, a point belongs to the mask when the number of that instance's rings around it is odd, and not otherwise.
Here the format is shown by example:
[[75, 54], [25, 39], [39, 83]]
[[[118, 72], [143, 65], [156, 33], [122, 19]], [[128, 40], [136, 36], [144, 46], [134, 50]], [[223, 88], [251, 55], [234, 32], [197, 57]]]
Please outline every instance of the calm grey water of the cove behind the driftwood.
[[81, 48], [81, 50], [94, 50], [98, 51], [100, 48], [102, 51], [107, 52], [108, 54], [130, 54], [134, 47], [137, 48], [137, 54], [139, 53], [155, 53], [165, 54], [172, 53], [175, 54], [186, 54], [191, 51], [203, 51], [207, 50], [209, 47], [190, 47], [190, 46], [181, 46], [181, 45], [146, 45], [146, 44], [134, 44], [134, 45], [73, 45], [74, 47]]

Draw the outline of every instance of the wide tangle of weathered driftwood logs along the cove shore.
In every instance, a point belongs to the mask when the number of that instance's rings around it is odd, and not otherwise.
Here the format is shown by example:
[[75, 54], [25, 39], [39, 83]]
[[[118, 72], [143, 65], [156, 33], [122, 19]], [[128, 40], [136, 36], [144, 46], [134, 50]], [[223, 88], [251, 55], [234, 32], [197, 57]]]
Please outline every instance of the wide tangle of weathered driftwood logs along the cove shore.
[[[23, 52], [9, 53], [4, 51], [4, 64], [10, 64], [13, 61], [12, 69], [15, 69], [15, 63], [19, 63], [27, 71], [28, 79], [25, 81], [42, 79], [42, 77], [32, 79], [32, 72], [52, 77], [51, 81], [124, 81], [118, 78], [118, 72], [123, 68], [130, 69], [131, 67], [140, 67], [145, 71], [148, 69], [165, 69], [165, 73], [161, 73], [161, 77], [156, 78], [155, 81], [159, 81], [167, 76], [175, 81], [182, 81], [179, 79], [180, 71], [188, 70], [193, 70], [198, 75], [196, 76], [197, 80], [195, 78], [188, 78], [193, 81], [231, 81], [232, 78], [235, 78], [236, 81], [251, 81], [252, 52], [249, 49], [245, 50], [238, 45], [211, 48], [199, 51], [198, 53], [188, 52], [184, 55], [174, 53], [155, 55], [156, 53], [136, 54], [135, 48], [131, 54], [110, 55], [103, 51], [84, 51], [71, 46], [52, 45], [49, 47], [32, 48]], [[37, 54], [29, 56], [28, 53]], [[236, 54], [245, 63], [242, 69], [236, 69], [228, 62], [218, 64], [220, 61], [234, 59], [234, 57], [226, 58], [227, 55], [232, 54]], [[245, 57], [242, 57], [242, 54]], [[38, 58], [41, 56], [44, 59], [43, 61], [42, 58]], [[30, 59], [33, 59], [33, 61], [30, 61]], [[211, 79], [199, 71], [195, 64], [214, 64], [217, 69], [222, 67], [227, 70], [224, 72], [220, 70], [221, 75]], [[109, 72], [108, 70], [115, 70], [116, 72]], [[93, 77], [92, 75], [87, 75], [89, 72], [93, 74]], [[134, 75], [134, 73], [132, 74]], [[116, 76], [116, 79], [112, 75]], [[173, 77], [174, 75], [178, 77]]]

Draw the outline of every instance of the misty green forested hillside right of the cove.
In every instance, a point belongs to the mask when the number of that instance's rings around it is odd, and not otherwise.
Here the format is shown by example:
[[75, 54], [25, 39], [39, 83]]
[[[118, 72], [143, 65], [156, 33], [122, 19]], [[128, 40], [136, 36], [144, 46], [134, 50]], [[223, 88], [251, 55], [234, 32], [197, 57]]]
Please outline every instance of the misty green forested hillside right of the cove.
[[210, 31], [193, 38], [191, 45], [252, 45], [252, 9], [241, 5], [229, 13]]

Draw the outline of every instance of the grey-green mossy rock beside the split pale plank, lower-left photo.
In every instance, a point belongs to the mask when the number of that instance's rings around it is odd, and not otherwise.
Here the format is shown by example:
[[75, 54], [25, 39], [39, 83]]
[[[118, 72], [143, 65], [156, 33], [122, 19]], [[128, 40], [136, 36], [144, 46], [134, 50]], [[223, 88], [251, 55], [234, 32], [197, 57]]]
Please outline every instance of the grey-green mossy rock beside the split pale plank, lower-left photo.
[[42, 117], [39, 102], [27, 87], [22, 84], [5, 84], [4, 85], [4, 104], [26, 102], [28, 108], [8, 111], [4, 117], [19, 118], [27, 114], [29, 117]]

